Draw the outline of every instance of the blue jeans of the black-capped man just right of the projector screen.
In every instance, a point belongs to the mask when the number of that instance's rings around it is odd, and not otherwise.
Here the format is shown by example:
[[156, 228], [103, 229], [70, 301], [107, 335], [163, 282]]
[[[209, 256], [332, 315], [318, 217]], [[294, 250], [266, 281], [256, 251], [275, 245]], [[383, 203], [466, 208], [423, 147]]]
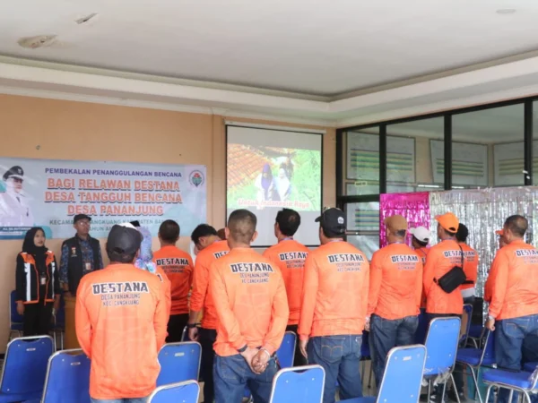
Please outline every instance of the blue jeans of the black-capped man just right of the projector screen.
[[360, 334], [315, 337], [308, 342], [308, 364], [319, 364], [325, 369], [323, 403], [334, 403], [336, 381], [341, 400], [362, 397], [361, 343]]

